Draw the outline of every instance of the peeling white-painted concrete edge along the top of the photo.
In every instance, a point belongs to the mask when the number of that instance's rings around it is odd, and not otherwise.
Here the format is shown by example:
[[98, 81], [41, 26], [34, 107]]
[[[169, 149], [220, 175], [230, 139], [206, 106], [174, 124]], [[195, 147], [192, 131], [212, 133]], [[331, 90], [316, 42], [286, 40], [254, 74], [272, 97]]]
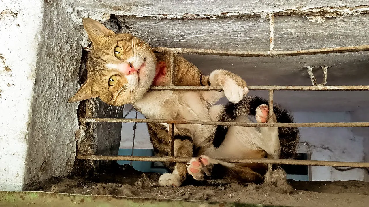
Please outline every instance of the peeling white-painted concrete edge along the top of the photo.
[[110, 14], [152, 19], [183, 19], [183, 18], [225, 18], [225, 17], [256, 17], [268, 18], [268, 14], [307, 15], [320, 13], [325, 17], [342, 17], [361, 14], [369, 11], [365, 0], [359, 1], [242, 1], [242, 0], [209, 0], [187, 1], [110, 1], [110, 0], [66, 0], [73, 10], [76, 21], [90, 17], [107, 21]]

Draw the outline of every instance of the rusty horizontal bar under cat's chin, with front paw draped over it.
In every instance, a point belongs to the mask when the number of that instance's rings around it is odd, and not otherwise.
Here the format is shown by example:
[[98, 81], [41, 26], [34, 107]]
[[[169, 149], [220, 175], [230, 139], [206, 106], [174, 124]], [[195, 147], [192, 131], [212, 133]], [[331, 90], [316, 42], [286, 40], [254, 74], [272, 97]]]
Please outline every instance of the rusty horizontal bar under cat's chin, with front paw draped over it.
[[[275, 90], [275, 91], [367, 91], [369, 85], [248, 85], [249, 90]], [[152, 91], [222, 91], [221, 86], [153, 86]]]

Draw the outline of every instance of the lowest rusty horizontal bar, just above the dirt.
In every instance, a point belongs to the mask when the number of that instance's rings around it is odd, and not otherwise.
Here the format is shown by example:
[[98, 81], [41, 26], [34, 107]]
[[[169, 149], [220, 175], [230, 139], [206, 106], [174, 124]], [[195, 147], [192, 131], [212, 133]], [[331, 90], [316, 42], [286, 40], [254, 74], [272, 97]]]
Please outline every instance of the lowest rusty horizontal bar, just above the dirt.
[[[192, 157], [141, 157], [141, 156], [120, 156], [120, 155], [77, 155], [77, 159], [91, 160], [127, 160], [127, 161], [151, 161], [151, 162], [189, 162]], [[241, 158], [214, 158], [225, 162], [233, 163], [264, 163], [282, 165], [314, 165], [314, 166], [336, 166], [369, 168], [368, 162], [340, 162], [321, 160], [300, 160], [300, 159], [241, 159]]]

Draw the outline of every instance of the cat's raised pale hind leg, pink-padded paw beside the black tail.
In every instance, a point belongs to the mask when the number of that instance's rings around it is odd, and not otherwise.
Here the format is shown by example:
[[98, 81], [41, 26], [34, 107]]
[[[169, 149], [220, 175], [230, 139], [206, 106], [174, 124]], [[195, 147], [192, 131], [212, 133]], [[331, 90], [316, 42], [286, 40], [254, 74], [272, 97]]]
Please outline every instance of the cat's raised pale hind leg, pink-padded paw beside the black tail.
[[[277, 122], [273, 113], [274, 122]], [[256, 108], [256, 122], [267, 123], [269, 121], [269, 107], [262, 104]], [[277, 127], [260, 127], [261, 140], [257, 143], [260, 148], [268, 153], [268, 158], [280, 158], [280, 142]]]

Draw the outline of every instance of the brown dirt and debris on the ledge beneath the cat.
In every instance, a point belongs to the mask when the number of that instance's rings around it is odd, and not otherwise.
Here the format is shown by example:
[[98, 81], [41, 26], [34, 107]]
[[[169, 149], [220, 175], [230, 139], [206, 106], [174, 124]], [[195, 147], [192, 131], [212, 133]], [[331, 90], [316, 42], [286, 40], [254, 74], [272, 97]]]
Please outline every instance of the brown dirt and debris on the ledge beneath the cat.
[[281, 192], [280, 183], [273, 185], [181, 186], [161, 187], [158, 173], [135, 171], [130, 165], [95, 172], [85, 178], [58, 178], [40, 187], [39, 191], [72, 194], [168, 198], [241, 202], [296, 207], [367, 207], [369, 183], [361, 181], [295, 181], [289, 193]]

